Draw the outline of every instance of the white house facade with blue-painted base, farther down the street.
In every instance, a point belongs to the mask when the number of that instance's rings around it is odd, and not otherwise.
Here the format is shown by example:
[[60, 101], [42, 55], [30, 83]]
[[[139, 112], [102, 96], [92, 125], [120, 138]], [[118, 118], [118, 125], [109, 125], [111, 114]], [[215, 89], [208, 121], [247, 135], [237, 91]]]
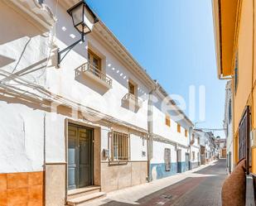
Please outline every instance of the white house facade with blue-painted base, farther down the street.
[[[167, 92], [157, 84], [152, 92], [152, 159], [150, 160], [152, 180], [161, 179], [189, 170], [189, 139], [193, 123], [168, 97]], [[170, 103], [173, 108], [162, 107]]]

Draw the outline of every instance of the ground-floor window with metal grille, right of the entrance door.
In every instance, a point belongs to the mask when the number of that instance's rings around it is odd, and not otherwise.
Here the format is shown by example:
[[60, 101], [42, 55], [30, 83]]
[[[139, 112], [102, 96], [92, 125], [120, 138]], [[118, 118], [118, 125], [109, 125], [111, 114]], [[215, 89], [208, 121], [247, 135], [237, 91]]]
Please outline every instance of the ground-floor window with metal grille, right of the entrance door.
[[113, 132], [112, 160], [128, 160], [129, 136], [122, 132]]

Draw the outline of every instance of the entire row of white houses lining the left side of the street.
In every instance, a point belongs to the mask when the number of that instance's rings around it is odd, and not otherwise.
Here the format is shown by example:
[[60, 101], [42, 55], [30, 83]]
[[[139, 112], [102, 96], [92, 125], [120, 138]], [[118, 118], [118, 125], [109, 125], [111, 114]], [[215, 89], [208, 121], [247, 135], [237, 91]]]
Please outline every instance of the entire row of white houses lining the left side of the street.
[[76, 2], [0, 2], [3, 204], [80, 204], [200, 161], [192, 122], [103, 22], [58, 64]]

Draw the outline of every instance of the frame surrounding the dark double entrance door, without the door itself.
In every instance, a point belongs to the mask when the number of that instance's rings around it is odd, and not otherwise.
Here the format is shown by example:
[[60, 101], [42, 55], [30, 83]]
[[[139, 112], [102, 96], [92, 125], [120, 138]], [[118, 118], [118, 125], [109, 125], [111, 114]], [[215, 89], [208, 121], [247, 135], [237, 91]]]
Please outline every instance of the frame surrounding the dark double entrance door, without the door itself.
[[81, 127], [81, 128], [87, 128], [92, 130], [92, 139], [91, 139], [91, 182], [92, 185], [94, 185], [94, 129], [95, 127], [90, 127], [90, 125], [84, 123], [84, 122], [77, 122], [74, 120], [71, 120], [69, 118], [65, 119], [65, 197], [67, 198], [68, 195], [68, 141], [69, 141], [69, 125], [73, 125], [75, 127]]

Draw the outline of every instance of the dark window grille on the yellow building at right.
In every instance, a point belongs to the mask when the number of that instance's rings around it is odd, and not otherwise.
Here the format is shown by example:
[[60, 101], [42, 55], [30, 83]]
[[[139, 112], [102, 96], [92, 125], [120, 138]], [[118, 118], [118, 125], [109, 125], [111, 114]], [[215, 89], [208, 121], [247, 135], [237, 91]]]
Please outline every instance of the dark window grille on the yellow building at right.
[[246, 106], [243, 117], [239, 122], [239, 160], [246, 158], [246, 170], [249, 174], [249, 131], [250, 117], [249, 106]]

